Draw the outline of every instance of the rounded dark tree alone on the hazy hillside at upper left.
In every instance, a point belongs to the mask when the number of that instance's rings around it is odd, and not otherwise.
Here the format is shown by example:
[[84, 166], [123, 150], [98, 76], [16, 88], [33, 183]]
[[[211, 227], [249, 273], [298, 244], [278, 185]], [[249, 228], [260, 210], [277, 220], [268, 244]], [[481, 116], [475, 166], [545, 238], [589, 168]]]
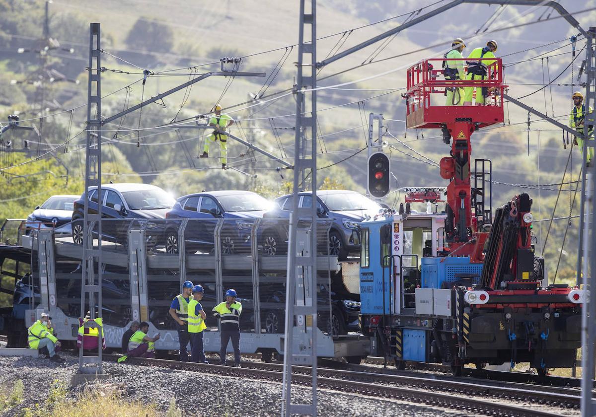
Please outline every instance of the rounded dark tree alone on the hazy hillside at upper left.
[[139, 17], [128, 32], [126, 43], [131, 49], [138, 51], [170, 52], [173, 48], [174, 34], [170, 27], [162, 23]]

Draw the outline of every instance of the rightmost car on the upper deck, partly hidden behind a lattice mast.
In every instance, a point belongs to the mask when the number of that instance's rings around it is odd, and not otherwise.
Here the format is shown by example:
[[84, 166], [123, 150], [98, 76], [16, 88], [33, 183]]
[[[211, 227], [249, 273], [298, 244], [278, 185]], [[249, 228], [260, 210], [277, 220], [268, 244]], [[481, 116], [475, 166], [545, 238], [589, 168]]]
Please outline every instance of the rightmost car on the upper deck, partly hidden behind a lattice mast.
[[[299, 207], [312, 207], [312, 193], [299, 193]], [[381, 206], [356, 191], [327, 189], [316, 192], [316, 213], [321, 219], [333, 220], [329, 231], [329, 254], [344, 260], [350, 253], [358, 253], [360, 242], [358, 223], [373, 217]], [[277, 207], [263, 215], [267, 218], [289, 219], [293, 206], [292, 194], [275, 199]], [[268, 227], [260, 234], [266, 255], [287, 253], [288, 223], [266, 223]]]

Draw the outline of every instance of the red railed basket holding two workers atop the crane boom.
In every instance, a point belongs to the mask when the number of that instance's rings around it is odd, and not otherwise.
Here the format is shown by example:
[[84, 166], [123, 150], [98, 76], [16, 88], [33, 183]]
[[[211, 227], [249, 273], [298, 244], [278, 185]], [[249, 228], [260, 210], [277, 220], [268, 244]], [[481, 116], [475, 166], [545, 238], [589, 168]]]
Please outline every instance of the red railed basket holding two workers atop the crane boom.
[[[453, 58], [449, 61], [468, 61], [468, 58]], [[406, 99], [406, 126], [408, 129], [437, 129], [457, 119], [470, 119], [478, 127], [485, 127], [503, 121], [503, 83], [501, 58], [474, 58], [474, 61], [495, 61], [487, 67], [485, 80], [443, 79], [443, 58], [430, 58], [410, 67], [407, 72], [408, 92]], [[432, 95], [443, 94], [447, 87], [485, 87], [491, 92], [491, 105], [446, 106], [443, 96], [440, 104], [432, 104]], [[434, 101], [434, 100], [433, 100]]]

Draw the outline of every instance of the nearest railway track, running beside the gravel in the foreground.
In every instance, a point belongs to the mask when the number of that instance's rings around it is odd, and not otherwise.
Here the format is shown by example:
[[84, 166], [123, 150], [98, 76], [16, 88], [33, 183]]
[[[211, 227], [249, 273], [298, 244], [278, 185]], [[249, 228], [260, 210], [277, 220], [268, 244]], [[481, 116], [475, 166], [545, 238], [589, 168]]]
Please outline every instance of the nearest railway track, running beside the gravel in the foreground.
[[[104, 355], [106, 360], [116, 360], [117, 356]], [[282, 365], [278, 363], [243, 362], [243, 368], [230, 368], [221, 365], [178, 362], [167, 359], [131, 358], [127, 362], [134, 365], [160, 366], [170, 369], [204, 372], [207, 374], [242, 376], [267, 381], [281, 382]], [[296, 384], [311, 384], [311, 369], [293, 366], [292, 378]], [[358, 393], [383, 399], [398, 399], [430, 406], [446, 407], [473, 413], [474, 415], [495, 416], [559, 416], [550, 410], [530, 409], [524, 406], [503, 403], [503, 399], [523, 401], [541, 406], [578, 407], [579, 396], [566, 392], [550, 392], [520, 387], [497, 387], [479, 385], [476, 382], [446, 381], [444, 379], [420, 378], [384, 374], [378, 372], [355, 372], [344, 369], [318, 369], [317, 386], [346, 393]], [[437, 392], [440, 390], [442, 392]], [[577, 393], [577, 391], [575, 391]], [[479, 398], [483, 397], [483, 398]], [[498, 397], [501, 401], [492, 402], [486, 397]]]

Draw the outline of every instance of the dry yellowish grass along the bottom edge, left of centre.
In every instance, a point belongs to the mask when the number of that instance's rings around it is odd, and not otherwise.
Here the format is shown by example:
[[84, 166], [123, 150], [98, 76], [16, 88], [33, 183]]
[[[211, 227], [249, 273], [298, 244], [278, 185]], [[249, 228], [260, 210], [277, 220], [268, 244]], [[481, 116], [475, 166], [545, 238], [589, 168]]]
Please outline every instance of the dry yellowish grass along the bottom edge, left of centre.
[[[22, 382], [21, 382], [22, 384]], [[45, 404], [35, 404], [23, 410], [23, 417], [157, 417], [159, 413], [153, 404], [126, 399], [110, 385], [90, 388], [78, 394], [74, 399], [68, 397], [69, 391], [64, 382], [55, 380], [49, 390]], [[169, 417], [181, 416], [180, 409], [172, 400], [166, 413]]]

